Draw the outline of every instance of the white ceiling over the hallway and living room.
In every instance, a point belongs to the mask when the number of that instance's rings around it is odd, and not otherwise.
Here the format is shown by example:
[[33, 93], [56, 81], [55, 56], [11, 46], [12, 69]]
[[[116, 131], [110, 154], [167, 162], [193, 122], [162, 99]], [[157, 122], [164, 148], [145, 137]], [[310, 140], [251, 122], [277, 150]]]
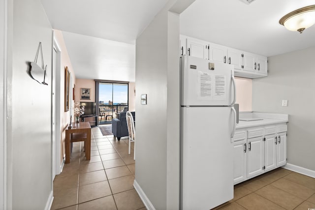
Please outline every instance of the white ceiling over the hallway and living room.
[[135, 81], [135, 40], [167, 0], [41, 0], [76, 78]]

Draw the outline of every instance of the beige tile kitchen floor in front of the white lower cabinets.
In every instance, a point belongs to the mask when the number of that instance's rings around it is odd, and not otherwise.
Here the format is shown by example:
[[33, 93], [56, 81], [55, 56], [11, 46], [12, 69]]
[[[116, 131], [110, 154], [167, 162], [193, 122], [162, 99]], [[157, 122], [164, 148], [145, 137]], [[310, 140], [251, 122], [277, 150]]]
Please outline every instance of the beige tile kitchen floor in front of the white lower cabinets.
[[278, 168], [234, 186], [216, 210], [315, 210], [315, 179]]

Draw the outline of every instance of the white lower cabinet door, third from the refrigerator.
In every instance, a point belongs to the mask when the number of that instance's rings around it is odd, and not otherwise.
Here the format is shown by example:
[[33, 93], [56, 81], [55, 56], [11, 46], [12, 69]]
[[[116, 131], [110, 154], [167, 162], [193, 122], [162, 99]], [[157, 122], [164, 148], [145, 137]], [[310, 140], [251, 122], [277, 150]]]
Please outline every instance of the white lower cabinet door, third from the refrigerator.
[[265, 171], [277, 167], [277, 138], [276, 134], [265, 136]]

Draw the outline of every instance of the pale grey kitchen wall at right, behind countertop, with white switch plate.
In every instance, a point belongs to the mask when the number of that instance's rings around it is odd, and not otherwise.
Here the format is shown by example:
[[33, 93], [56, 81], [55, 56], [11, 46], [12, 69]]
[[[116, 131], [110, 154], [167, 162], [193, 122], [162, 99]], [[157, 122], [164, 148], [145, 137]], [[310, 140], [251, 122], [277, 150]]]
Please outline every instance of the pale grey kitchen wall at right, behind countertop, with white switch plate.
[[[315, 47], [268, 58], [252, 81], [252, 110], [289, 114], [287, 162], [315, 171]], [[282, 106], [282, 99], [288, 106]]]

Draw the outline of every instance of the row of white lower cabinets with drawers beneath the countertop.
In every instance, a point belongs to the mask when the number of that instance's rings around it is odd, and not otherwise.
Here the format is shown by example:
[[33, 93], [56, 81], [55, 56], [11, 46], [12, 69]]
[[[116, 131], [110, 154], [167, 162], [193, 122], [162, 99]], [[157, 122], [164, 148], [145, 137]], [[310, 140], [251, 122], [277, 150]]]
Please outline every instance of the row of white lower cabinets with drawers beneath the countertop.
[[286, 164], [286, 124], [236, 129], [234, 184]]

